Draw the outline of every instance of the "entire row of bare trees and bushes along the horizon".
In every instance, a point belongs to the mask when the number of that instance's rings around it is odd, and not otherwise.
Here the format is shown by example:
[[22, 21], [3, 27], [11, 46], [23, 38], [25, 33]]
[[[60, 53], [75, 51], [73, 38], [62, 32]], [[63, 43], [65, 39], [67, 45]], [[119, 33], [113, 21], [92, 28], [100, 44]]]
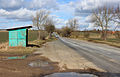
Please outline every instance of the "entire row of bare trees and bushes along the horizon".
[[[77, 31], [80, 28], [79, 20], [76, 18], [71, 18], [66, 23], [66, 26], [62, 27], [61, 29], [55, 28], [55, 22], [53, 21], [52, 17], [50, 17], [50, 12], [46, 10], [40, 10], [36, 12], [36, 15], [33, 16], [33, 25], [37, 27], [38, 30], [38, 39], [44, 39], [43, 37], [45, 34], [41, 32], [41, 30], [45, 30], [49, 34], [49, 38], [51, 38], [51, 34], [56, 31], [63, 37], [70, 37], [71, 35], [75, 35], [75, 37], [79, 36]], [[113, 29], [116, 31], [118, 26], [120, 26], [120, 7], [101, 7], [96, 10], [93, 10], [91, 16], [91, 23], [94, 23], [95, 27], [101, 28], [100, 30], [93, 30], [101, 34], [102, 40], [107, 40], [107, 36], [109, 33], [109, 28], [114, 26], [110, 25], [111, 23], [117, 23], [118, 25]], [[93, 32], [92, 31], [92, 32]], [[88, 30], [83, 31], [84, 37], [89, 38], [90, 32]], [[120, 32], [115, 32], [115, 36], [120, 38]]]

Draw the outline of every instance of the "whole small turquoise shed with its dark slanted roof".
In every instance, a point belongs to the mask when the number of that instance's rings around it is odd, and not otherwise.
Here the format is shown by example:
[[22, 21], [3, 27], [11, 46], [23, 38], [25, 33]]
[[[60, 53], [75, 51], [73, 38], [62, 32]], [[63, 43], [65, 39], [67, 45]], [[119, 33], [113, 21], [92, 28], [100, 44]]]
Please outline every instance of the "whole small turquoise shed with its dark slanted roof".
[[32, 26], [7, 29], [9, 31], [9, 46], [26, 47], [28, 45], [28, 28], [32, 28]]

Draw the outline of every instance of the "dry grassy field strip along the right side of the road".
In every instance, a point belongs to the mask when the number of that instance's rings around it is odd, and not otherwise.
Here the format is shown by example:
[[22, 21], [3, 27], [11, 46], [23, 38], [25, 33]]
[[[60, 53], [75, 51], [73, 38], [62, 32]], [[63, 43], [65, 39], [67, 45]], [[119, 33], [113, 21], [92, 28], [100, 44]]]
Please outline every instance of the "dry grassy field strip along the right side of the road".
[[[120, 34], [120, 32], [119, 32], [119, 34]], [[108, 44], [108, 45], [120, 48], [120, 38], [116, 38], [115, 34], [112, 34], [112, 33], [108, 33], [107, 40], [101, 39], [100, 32], [89, 32], [88, 38], [85, 38], [84, 32], [73, 32], [71, 34], [71, 38], [87, 40], [87, 41], [95, 42], [95, 43]]]

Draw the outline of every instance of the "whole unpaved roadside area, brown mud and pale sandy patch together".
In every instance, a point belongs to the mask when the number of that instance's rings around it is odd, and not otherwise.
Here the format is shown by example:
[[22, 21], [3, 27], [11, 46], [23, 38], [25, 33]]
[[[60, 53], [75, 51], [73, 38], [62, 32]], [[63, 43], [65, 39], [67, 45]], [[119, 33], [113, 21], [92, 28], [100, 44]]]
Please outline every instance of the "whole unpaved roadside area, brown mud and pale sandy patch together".
[[[87, 61], [60, 41], [48, 42], [36, 50], [36, 52], [23, 60], [0, 59], [0, 77], [43, 77], [54, 72], [69, 71], [91, 73], [91, 69], [92, 72], [104, 72], [104, 70]], [[0, 56], [5, 56], [5, 54], [0, 54]], [[7, 54], [7, 56], [11, 55]], [[47, 61], [54, 68], [51, 70], [28, 65], [36, 60]]]

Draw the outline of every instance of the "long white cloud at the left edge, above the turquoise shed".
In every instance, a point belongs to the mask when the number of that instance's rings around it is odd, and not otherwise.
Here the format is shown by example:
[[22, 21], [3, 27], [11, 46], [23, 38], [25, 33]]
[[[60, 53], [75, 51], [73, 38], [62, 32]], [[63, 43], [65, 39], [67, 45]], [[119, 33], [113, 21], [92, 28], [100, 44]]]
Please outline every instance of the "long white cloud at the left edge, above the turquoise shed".
[[31, 11], [26, 8], [21, 8], [16, 11], [6, 11], [4, 9], [0, 9], [0, 18], [14, 19], [17, 21], [30, 21], [35, 12], [36, 11]]

